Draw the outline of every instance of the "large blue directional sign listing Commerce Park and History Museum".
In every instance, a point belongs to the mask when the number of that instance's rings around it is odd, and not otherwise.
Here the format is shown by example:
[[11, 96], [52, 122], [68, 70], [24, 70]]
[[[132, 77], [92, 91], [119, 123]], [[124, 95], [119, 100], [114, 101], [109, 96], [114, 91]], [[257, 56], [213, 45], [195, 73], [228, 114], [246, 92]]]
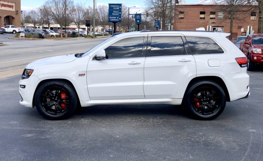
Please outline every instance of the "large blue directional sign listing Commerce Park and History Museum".
[[109, 4], [108, 22], [122, 22], [122, 4]]

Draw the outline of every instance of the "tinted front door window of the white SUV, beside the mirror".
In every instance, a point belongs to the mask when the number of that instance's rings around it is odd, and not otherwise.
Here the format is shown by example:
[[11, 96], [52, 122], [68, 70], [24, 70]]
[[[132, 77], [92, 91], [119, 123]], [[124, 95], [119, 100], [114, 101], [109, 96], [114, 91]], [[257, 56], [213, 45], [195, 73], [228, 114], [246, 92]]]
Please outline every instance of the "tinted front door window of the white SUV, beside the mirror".
[[105, 49], [106, 58], [141, 57], [144, 37], [122, 39]]

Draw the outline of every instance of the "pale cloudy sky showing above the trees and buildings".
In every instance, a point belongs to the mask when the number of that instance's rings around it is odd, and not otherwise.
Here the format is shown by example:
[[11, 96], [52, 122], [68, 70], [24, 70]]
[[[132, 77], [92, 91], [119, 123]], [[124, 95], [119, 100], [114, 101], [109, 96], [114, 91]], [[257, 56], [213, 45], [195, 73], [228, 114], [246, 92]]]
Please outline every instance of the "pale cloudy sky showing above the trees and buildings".
[[[204, 3], [200, 2], [202, 0], [185, 0], [187, 4], [197, 4], [197, 3]], [[21, 10], [31, 10], [43, 5], [45, 0], [43, 1], [36, 1], [36, 0], [21, 0]], [[74, 0], [74, 2], [82, 2], [85, 3], [86, 6], [93, 6], [93, 0]], [[140, 9], [145, 7], [144, 0], [97, 0], [97, 5], [108, 5], [108, 3], [122, 3], [128, 7], [136, 6], [136, 8], [132, 8], [131, 12], [136, 12]], [[131, 13], [130, 12], [130, 13]], [[138, 12], [140, 13], [140, 12]]]

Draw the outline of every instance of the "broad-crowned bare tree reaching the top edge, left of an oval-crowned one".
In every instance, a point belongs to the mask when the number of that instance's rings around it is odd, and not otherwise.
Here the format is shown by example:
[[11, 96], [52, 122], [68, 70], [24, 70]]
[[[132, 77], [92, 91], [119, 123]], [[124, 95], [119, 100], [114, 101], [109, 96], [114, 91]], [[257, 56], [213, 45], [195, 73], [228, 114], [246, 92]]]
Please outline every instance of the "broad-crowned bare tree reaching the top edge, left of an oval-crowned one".
[[[69, 15], [72, 13], [73, 1], [71, 0], [52, 0], [46, 1], [44, 5], [48, 11], [51, 13], [53, 20], [58, 23], [61, 27], [66, 23], [71, 21]], [[66, 26], [65, 26], [66, 28]], [[61, 31], [62, 37], [62, 31]]]

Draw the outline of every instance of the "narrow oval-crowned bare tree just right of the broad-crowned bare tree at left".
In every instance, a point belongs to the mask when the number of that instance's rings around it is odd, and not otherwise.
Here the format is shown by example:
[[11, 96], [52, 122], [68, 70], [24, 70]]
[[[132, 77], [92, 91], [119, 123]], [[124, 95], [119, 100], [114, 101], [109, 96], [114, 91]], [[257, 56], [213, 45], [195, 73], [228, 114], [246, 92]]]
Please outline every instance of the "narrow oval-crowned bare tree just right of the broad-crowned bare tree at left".
[[83, 20], [86, 15], [86, 8], [84, 3], [77, 3], [74, 5], [74, 9], [71, 12], [72, 21], [78, 28], [79, 36], [80, 36], [80, 26], [83, 24]]

